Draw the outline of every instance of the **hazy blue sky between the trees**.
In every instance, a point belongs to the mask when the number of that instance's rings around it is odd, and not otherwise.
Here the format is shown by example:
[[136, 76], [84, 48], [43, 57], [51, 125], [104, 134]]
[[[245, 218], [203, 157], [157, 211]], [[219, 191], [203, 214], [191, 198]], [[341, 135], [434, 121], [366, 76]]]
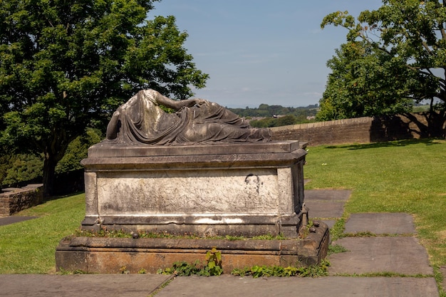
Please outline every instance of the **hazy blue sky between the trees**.
[[[197, 98], [229, 108], [318, 103], [326, 62], [346, 42], [346, 29], [321, 29], [324, 16], [358, 16], [380, 0], [162, 0], [150, 16], [175, 16], [199, 70], [209, 74]], [[149, 17], [150, 17], [149, 16]]]

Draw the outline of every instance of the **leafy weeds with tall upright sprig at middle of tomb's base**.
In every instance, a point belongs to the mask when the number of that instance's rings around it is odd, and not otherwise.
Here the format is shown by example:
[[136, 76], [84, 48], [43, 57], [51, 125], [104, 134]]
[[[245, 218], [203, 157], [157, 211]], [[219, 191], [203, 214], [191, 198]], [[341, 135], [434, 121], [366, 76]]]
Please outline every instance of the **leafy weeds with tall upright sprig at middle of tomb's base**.
[[219, 276], [223, 273], [222, 252], [212, 248], [206, 253], [206, 261], [195, 261], [190, 264], [185, 261], [177, 261], [172, 268], [160, 269], [158, 273], [175, 274], [177, 276]]

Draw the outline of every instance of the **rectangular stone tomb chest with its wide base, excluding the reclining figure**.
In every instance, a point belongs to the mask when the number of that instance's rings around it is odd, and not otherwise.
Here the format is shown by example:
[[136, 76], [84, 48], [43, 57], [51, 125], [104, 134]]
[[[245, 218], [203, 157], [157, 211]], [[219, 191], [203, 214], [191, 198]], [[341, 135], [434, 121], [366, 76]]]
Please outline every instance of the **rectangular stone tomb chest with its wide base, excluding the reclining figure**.
[[59, 244], [57, 269], [116, 273], [127, 266], [131, 272], [155, 272], [174, 261], [204, 258], [212, 246], [222, 251], [225, 271], [249, 264], [316, 264], [326, 256], [326, 224], [297, 239], [308, 218], [305, 155], [298, 141], [94, 145], [82, 161], [82, 229], [247, 238], [282, 234], [287, 240], [76, 237]]

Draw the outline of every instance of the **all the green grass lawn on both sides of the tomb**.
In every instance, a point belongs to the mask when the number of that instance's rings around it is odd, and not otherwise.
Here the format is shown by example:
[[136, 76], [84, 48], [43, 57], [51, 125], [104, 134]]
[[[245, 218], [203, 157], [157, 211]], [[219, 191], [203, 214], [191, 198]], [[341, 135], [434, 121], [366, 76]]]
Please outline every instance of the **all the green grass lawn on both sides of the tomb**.
[[[353, 212], [414, 214], [418, 238], [433, 266], [446, 265], [446, 142], [404, 140], [370, 145], [308, 147], [306, 189], [352, 189]], [[58, 241], [75, 233], [85, 196], [56, 199], [19, 215], [39, 216], [0, 226], [0, 273], [54, 273]]]

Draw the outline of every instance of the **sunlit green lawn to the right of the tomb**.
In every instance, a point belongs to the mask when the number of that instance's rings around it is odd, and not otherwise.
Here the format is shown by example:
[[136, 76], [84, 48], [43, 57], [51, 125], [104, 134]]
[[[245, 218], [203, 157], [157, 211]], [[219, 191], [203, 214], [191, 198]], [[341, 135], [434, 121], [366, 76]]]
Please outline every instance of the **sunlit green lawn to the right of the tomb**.
[[446, 142], [308, 147], [306, 189], [352, 189], [354, 212], [413, 214], [433, 266], [446, 265]]

